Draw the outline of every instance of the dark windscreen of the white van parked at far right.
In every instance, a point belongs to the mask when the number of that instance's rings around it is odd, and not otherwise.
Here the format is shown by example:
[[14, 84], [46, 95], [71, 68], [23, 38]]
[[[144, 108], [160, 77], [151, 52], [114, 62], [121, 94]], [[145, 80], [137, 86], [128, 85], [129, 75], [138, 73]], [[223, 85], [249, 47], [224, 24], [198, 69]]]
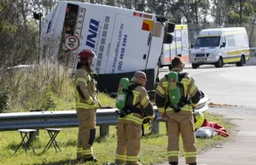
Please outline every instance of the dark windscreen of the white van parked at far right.
[[218, 47], [219, 41], [220, 37], [197, 37], [194, 47]]

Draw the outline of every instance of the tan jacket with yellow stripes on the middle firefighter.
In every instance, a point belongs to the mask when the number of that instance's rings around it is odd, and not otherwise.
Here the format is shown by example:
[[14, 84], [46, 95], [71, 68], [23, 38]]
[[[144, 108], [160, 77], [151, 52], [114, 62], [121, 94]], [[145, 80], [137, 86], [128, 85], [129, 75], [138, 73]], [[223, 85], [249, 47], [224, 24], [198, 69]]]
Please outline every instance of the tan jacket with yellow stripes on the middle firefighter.
[[[140, 84], [137, 77], [132, 77], [131, 83]], [[154, 108], [152, 103], [149, 100], [147, 90], [143, 86], [137, 86], [132, 90], [132, 94], [133, 94], [132, 105], [136, 105], [138, 102], [140, 102], [140, 104], [137, 105], [137, 108], [142, 110], [148, 117], [154, 118]], [[133, 122], [137, 124], [142, 124], [143, 117], [138, 113], [131, 113], [126, 115], [125, 117], [119, 117], [119, 123], [133, 123]]]

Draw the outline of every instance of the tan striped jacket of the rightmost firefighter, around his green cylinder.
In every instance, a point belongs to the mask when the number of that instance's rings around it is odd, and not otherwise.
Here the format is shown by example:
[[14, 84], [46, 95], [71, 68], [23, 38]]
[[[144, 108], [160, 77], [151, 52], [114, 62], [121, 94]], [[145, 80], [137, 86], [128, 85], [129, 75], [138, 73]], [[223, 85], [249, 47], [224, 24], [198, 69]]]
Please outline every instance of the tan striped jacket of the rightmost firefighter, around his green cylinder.
[[[177, 73], [180, 73], [181, 71], [179, 71], [177, 68], [173, 68], [172, 71], [177, 71]], [[195, 109], [198, 101], [200, 100], [200, 92], [195, 84], [195, 81], [192, 77], [189, 77], [188, 74], [186, 74], [182, 81], [180, 82], [183, 84], [183, 97], [186, 97], [188, 95], [188, 98], [192, 99], [191, 105], [184, 105], [181, 108], [181, 111], [193, 111], [193, 109]], [[165, 110], [165, 104], [166, 102], [169, 100], [169, 96], [168, 96], [168, 81], [166, 77], [162, 77], [160, 79], [160, 83], [158, 84], [157, 88], [156, 88], [156, 99], [155, 99], [155, 104], [158, 108], [158, 111], [160, 111], [160, 113], [165, 113], [165, 111], [173, 111], [173, 109], [171, 107], [167, 107]], [[195, 99], [193, 98], [195, 97]], [[157, 99], [160, 98], [160, 99]], [[194, 100], [195, 101], [194, 101]], [[164, 103], [160, 103], [163, 100]]]

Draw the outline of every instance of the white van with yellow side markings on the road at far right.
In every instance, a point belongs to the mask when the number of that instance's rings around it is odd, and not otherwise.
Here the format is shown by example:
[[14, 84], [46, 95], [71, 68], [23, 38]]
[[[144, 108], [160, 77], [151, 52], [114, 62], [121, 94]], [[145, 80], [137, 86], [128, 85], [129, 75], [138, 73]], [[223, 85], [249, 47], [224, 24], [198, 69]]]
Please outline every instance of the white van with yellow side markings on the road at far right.
[[204, 29], [191, 44], [189, 62], [196, 69], [199, 65], [245, 65], [249, 60], [249, 43], [244, 27]]

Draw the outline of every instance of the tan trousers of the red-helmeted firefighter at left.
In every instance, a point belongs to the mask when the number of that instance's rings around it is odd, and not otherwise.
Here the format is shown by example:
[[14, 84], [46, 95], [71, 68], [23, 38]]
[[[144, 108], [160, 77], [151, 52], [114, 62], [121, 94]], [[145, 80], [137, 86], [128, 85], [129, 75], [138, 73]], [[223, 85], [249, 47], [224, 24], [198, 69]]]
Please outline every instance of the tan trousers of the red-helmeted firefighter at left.
[[96, 138], [96, 110], [77, 109], [79, 135], [77, 158], [93, 156], [92, 145]]

